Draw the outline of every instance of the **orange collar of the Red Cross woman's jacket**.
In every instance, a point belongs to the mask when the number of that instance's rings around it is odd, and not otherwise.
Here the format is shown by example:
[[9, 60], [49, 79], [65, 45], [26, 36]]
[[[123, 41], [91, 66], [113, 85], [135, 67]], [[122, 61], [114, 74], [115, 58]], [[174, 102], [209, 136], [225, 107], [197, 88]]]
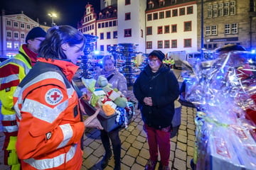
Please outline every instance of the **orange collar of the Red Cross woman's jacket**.
[[38, 62], [46, 62], [49, 64], [53, 64], [55, 66], [58, 66], [61, 69], [61, 71], [63, 72], [63, 74], [65, 74], [65, 76], [67, 77], [68, 81], [72, 81], [72, 79], [75, 75], [75, 72], [77, 72], [78, 68], [79, 68], [72, 62], [68, 62], [65, 60], [58, 60], [58, 59], [46, 60], [45, 58], [38, 57]]

